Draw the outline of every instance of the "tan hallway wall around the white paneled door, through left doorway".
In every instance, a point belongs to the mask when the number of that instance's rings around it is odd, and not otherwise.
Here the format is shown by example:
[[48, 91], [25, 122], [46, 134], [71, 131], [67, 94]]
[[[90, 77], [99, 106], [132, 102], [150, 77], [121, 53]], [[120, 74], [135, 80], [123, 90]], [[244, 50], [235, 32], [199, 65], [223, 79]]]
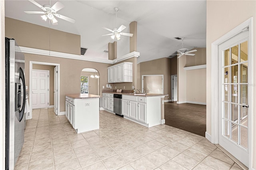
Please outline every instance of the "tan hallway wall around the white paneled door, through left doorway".
[[50, 71], [50, 106], [54, 105], [54, 65], [40, 65], [40, 64], [33, 64], [32, 69], [37, 70], [49, 70]]

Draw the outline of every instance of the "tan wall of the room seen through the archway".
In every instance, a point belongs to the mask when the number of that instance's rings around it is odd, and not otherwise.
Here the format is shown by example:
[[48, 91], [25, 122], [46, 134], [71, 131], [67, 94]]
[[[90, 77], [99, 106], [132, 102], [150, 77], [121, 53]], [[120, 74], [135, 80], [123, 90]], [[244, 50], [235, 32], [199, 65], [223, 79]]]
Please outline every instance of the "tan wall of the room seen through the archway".
[[[98, 74], [98, 73], [96, 73], [96, 74]], [[91, 75], [95, 75], [95, 73], [87, 72], [87, 71], [81, 72], [81, 76], [88, 76], [88, 78], [89, 78], [89, 87], [88, 87], [89, 94], [99, 95], [99, 84], [98, 84], [99, 79], [92, 78], [92, 77], [90, 77]]]

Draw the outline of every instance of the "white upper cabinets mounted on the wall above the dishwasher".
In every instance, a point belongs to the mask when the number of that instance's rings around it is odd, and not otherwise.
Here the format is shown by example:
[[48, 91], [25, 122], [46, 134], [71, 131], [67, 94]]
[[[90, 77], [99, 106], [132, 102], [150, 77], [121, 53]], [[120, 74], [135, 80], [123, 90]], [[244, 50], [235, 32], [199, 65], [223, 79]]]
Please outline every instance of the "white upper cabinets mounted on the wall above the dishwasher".
[[132, 82], [132, 63], [124, 62], [108, 67], [108, 83]]

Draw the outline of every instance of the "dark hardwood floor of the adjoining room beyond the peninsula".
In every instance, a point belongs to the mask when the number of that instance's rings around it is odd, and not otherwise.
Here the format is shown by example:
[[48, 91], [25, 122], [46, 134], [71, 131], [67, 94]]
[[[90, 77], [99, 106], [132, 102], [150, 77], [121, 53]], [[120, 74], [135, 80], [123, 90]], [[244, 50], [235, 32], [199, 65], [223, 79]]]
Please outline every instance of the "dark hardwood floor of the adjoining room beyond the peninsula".
[[206, 105], [164, 103], [165, 124], [200, 136], [206, 132]]

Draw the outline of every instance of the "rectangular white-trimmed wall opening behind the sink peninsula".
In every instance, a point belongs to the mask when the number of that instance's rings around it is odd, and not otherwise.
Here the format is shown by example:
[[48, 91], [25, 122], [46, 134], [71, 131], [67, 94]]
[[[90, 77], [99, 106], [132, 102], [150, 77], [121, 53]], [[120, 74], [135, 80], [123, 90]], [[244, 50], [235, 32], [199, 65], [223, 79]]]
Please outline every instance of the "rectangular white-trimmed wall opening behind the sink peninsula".
[[142, 75], [142, 93], [164, 94], [164, 75]]

